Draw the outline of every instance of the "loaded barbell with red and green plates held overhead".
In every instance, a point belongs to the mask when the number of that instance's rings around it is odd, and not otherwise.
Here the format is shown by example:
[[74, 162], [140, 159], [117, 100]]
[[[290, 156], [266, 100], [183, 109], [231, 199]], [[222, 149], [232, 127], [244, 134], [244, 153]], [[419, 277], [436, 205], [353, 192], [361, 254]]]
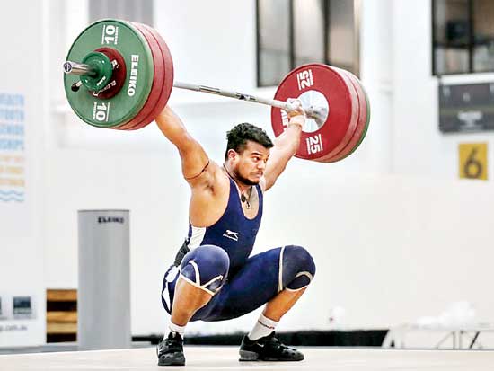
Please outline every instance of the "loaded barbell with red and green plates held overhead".
[[370, 120], [366, 90], [350, 72], [319, 63], [298, 66], [278, 85], [274, 99], [173, 81], [172, 55], [146, 24], [106, 19], [89, 25], [64, 63], [66, 98], [85, 123], [120, 130], [144, 128], [163, 110], [172, 87], [271, 106], [279, 136], [287, 111], [302, 103], [306, 120], [296, 156], [333, 163], [362, 143]]

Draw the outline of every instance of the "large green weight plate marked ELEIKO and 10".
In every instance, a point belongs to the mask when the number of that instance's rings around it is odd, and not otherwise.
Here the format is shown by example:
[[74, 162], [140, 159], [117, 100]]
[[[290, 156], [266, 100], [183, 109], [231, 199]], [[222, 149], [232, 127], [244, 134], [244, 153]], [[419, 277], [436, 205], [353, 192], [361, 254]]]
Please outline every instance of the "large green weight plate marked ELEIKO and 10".
[[110, 99], [99, 99], [81, 86], [77, 75], [65, 75], [67, 100], [79, 118], [101, 128], [114, 128], [137, 116], [147, 101], [154, 80], [153, 55], [146, 39], [127, 22], [101, 20], [87, 27], [74, 41], [66, 60], [81, 62], [94, 49], [116, 49], [124, 58], [127, 76], [122, 89]]

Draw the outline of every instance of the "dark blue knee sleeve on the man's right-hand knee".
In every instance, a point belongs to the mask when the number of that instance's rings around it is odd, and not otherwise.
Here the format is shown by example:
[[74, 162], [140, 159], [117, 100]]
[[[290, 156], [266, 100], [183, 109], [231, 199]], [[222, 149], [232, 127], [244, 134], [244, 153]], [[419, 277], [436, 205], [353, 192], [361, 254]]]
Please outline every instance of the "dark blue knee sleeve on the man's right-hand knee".
[[285, 246], [279, 252], [278, 291], [299, 290], [309, 286], [315, 275], [313, 257], [301, 246]]

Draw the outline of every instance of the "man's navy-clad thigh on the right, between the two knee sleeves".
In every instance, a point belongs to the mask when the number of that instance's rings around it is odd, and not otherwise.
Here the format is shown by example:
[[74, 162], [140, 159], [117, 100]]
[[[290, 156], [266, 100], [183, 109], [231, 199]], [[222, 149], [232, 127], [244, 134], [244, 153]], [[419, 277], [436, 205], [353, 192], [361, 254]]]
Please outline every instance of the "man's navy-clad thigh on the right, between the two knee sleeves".
[[222, 321], [240, 317], [266, 304], [279, 292], [281, 248], [252, 256], [228, 278], [211, 301], [198, 310], [192, 321]]

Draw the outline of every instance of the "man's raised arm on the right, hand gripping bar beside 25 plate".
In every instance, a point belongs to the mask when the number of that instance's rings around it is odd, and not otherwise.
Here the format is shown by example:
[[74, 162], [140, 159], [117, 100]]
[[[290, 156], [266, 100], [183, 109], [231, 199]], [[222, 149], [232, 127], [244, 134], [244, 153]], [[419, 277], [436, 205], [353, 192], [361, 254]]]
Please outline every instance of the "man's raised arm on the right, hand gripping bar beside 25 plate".
[[304, 110], [294, 110], [288, 113], [288, 127], [275, 139], [275, 146], [271, 148], [268, 163], [266, 163], [264, 190], [269, 190], [274, 185], [278, 176], [285, 171], [288, 161], [296, 154], [304, 123]]

